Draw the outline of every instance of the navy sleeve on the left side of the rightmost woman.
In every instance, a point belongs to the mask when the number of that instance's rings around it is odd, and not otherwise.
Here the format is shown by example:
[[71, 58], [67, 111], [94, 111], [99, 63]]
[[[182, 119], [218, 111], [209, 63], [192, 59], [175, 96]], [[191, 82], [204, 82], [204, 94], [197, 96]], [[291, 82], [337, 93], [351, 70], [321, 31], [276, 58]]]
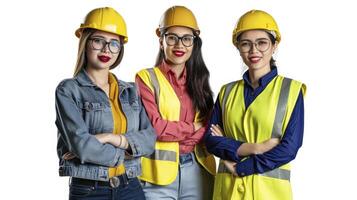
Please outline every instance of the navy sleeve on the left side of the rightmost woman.
[[222, 111], [218, 97], [214, 105], [207, 131], [204, 135], [207, 150], [223, 160], [240, 161], [240, 158], [237, 155], [237, 149], [243, 143], [232, 138], [213, 136], [210, 130], [212, 124], [218, 124], [223, 129]]

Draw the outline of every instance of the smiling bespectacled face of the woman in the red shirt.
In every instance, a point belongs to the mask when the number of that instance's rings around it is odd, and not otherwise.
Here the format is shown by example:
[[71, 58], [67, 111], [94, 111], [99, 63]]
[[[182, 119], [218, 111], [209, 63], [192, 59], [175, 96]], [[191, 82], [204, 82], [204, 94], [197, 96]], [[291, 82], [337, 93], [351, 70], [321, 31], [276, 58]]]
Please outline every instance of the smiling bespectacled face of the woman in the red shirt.
[[172, 65], [185, 65], [193, 49], [194, 35], [190, 28], [173, 26], [160, 38], [165, 60]]

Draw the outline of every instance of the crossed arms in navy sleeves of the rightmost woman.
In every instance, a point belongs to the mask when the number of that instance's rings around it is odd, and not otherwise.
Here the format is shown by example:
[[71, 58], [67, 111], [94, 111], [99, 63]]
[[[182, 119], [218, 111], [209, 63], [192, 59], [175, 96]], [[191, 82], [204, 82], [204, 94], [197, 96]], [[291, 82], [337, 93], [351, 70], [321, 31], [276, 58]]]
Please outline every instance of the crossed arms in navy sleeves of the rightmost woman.
[[221, 112], [219, 101], [216, 101], [210, 120], [211, 129], [207, 130], [205, 134], [205, 142], [210, 153], [222, 160], [230, 160], [233, 164], [237, 163], [237, 165], [232, 164], [231, 167], [228, 167], [235, 169], [231, 170], [232, 172], [234, 171], [239, 176], [264, 173], [289, 163], [296, 157], [303, 141], [304, 101], [302, 92], [299, 94], [283, 137], [279, 139], [269, 139], [253, 144], [222, 137], [221, 135], [225, 134], [217, 127], [217, 124], [223, 127]]

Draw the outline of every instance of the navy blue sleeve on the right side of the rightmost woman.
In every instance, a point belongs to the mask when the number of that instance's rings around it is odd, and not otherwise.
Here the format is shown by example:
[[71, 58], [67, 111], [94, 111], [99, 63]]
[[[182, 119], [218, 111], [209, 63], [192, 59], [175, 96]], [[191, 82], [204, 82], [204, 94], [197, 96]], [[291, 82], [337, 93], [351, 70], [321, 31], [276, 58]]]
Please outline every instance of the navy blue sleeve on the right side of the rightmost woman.
[[263, 154], [251, 155], [238, 162], [236, 171], [239, 176], [264, 173], [276, 169], [293, 159], [302, 145], [304, 133], [304, 100], [302, 92], [296, 101], [290, 121], [280, 143]]

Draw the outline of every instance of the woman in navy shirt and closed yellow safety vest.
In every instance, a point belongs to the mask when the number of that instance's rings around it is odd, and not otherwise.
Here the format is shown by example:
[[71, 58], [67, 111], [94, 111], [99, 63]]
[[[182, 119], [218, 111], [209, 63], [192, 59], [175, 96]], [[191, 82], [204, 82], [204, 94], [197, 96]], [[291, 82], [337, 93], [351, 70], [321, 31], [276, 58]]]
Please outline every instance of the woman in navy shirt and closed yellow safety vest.
[[302, 145], [306, 87], [278, 75], [272, 55], [281, 36], [268, 13], [245, 13], [232, 39], [248, 70], [221, 88], [205, 135], [221, 158], [213, 199], [292, 199], [289, 162]]

